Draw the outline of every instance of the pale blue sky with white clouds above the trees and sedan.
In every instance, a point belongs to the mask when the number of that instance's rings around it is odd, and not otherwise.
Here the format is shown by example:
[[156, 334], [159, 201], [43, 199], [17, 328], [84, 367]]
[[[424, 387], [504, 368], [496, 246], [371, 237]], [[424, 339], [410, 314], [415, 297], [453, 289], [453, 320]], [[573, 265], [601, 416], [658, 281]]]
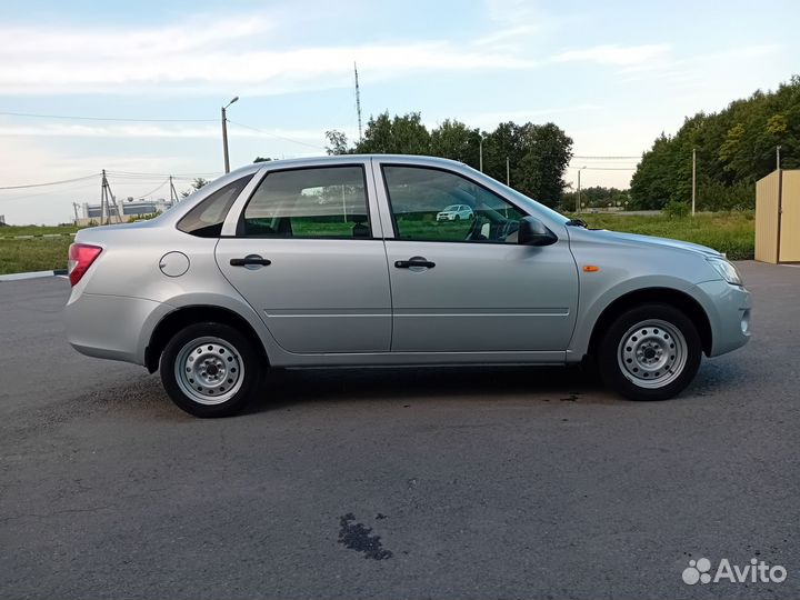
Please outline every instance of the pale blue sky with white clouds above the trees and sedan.
[[[232, 168], [323, 154], [327, 130], [358, 138], [353, 62], [364, 123], [552, 121], [579, 157], [638, 157], [798, 73], [798, 22], [796, 0], [0, 0], [0, 214], [69, 221], [102, 169], [118, 198], [221, 174], [236, 96]], [[627, 188], [636, 162], [576, 158], [564, 179]]]

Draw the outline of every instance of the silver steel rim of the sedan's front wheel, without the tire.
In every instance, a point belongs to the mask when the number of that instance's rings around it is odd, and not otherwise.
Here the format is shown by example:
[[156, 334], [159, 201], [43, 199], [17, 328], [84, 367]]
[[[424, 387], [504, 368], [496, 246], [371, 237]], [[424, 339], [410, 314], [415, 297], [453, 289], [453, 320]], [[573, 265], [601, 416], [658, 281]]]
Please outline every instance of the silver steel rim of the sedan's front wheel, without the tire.
[[652, 390], [678, 379], [688, 354], [687, 341], [680, 329], [667, 321], [648, 319], [622, 336], [617, 360], [631, 383]]

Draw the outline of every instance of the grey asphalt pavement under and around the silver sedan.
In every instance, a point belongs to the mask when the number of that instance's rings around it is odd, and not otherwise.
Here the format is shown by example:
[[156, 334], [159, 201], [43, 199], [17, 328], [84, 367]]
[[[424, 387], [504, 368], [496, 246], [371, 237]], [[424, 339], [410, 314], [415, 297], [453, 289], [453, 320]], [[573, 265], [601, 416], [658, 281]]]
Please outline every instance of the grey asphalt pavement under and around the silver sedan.
[[[0, 282], [0, 597], [798, 598], [800, 268], [740, 269], [752, 341], [673, 400], [284, 371], [222, 420], [71, 350], [64, 279]], [[700, 558], [787, 577], [689, 586]]]

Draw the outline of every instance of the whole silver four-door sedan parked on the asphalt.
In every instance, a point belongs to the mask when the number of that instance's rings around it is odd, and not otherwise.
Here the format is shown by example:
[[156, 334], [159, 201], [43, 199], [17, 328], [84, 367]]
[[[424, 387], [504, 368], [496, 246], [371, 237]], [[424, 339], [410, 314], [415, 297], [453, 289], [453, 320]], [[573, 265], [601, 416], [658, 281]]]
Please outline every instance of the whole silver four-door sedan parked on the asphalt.
[[[448, 207], [469, 219], [440, 221]], [[270, 367], [578, 363], [666, 399], [750, 338], [719, 252], [594, 231], [464, 164], [406, 156], [239, 169], [151, 221], [80, 231], [69, 341], [160, 370], [198, 417]]]

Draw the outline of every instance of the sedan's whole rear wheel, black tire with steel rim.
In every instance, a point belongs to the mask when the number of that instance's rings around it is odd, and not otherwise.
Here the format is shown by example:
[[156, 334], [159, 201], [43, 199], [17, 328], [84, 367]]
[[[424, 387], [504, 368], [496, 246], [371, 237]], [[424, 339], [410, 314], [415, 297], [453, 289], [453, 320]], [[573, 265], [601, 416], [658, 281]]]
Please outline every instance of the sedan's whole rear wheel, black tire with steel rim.
[[[194, 360], [194, 350], [190, 349], [193, 346], [202, 347], [199, 348], [203, 353], [198, 356], [200, 360], [197, 361], [197, 369], [203, 368], [200, 367], [202, 361], [207, 364], [206, 371], [188, 373], [187, 380], [179, 381], [177, 363], [180, 362], [182, 370], [183, 364]], [[220, 366], [208, 364], [210, 361], [218, 361]], [[164, 390], [179, 408], [194, 417], [213, 418], [229, 417], [244, 408], [258, 392], [266, 367], [252, 342], [238, 329], [223, 323], [204, 322], [189, 326], [172, 337], [161, 354], [159, 371]], [[192, 364], [186, 367], [186, 370], [190, 371], [194, 368], [196, 366]], [[213, 373], [210, 374], [212, 368]], [[208, 378], [206, 379], [208, 387], [197, 397], [190, 396], [187, 391], [189, 381], [203, 384], [206, 381], [196, 382], [194, 379], [188, 379], [192, 376]], [[233, 384], [226, 389], [224, 386], [229, 381]], [[232, 391], [232, 388], [236, 388], [236, 391]], [[198, 390], [201, 389], [202, 386], [198, 387]], [[220, 398], [226, 399], [218, 401], [211, 396], [214, 392], [221, 393]], [[191, 393], [194, 393], [193, 388]]]

